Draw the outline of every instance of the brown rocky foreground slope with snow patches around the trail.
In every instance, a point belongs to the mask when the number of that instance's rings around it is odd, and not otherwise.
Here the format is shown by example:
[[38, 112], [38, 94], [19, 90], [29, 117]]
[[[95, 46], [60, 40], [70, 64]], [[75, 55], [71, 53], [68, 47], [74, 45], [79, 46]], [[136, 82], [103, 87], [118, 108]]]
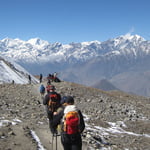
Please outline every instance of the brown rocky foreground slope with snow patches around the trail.
[[[53, 84], [62, 96], [74, 96], [85, 116], [84, 150], [149, 150], [150, 99], [68, 82]], [[1, 150], [52, 149], [39, 86], [0, 85]], [[43, 148], [33, 138], [34, 133]], [[61, 150], [60, 141], [58, 144]]]

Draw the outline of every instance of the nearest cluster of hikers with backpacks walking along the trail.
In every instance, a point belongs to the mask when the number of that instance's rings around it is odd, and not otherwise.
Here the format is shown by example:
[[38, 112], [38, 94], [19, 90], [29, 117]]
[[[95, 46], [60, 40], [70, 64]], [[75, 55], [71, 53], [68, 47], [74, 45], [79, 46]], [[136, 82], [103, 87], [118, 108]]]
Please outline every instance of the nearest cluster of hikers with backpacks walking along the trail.
[[61, 136], [64, 150], [81, 150], [81, 133], [85, 123], [81, 111], [74, 104], [74, 97], [61, 96], [50, 80], [47, 81], [46, 87], [41, 84], [40, 93], [43, 97], [43, 105], [46, 107], [52, 135]]

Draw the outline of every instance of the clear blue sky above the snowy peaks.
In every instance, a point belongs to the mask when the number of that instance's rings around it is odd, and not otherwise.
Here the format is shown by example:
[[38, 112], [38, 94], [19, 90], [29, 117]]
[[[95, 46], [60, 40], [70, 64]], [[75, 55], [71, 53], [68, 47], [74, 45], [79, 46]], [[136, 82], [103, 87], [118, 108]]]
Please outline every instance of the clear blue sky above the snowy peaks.
[[150, 40], [149, 0], [2, 0], [0, 40], [106, 41], [126, 33]]

